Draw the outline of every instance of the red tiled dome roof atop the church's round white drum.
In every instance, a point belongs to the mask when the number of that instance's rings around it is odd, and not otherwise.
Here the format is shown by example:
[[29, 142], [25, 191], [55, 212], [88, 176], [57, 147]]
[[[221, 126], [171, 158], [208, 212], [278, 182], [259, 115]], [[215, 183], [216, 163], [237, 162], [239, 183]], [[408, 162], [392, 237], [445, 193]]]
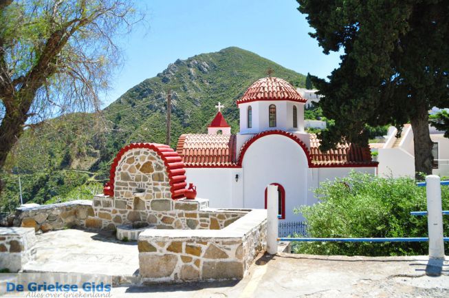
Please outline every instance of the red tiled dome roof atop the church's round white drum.
[[237, 105], [256, 100], [291, 100], [298, 103], [307, 101], [287, 81], [273, 76], [261, 78], [254, 82], [242, 98], [237, 100]]

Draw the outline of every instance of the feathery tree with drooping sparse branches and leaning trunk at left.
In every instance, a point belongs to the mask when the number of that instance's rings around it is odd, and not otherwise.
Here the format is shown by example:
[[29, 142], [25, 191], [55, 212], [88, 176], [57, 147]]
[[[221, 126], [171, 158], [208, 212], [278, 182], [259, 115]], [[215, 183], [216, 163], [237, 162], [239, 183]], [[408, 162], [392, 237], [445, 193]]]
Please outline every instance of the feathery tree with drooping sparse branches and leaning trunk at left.
[[141, 19], [126, 0], [0, 0], [0, 170], [25, 126], [99, 111], [115, 37]]

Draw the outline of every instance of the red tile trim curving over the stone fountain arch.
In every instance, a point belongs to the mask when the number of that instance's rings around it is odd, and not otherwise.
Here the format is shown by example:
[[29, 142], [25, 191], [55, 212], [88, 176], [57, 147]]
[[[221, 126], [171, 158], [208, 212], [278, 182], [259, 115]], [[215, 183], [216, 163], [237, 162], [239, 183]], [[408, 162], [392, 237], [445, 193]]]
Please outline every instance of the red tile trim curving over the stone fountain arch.
[[182, 158], [168, 145], [148, 142], [132, 143], [118, 151], [116, 158], [113, 159], [113, 162], [111, 164], [111, 170], [109, 171], [109, 182], [104, 189], [105, 195], [113, 195], [114, 182], [116, 180], [116, 169], [118, 166], [118, 162], [120, 162], [122, 156], [124, 156], [124, 153], [131, 149], [142, 148], [155, 151], [157, 155], [164, 161], [165, 170], [168, 175], [168, 181], [170, 184], [171, 198], [173, 200], [184, 198], [184, 191], [187, 183], [185, 175], [186, 170], [184, 169], [184, 162], [182, 162]]

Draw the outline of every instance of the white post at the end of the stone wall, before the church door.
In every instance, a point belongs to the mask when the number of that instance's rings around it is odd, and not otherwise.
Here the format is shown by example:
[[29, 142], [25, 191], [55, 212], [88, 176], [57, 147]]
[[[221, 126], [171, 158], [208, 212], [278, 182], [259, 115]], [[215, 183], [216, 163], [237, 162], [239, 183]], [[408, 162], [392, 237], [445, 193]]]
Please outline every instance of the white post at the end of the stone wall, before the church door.
[[267, 253], [278, 253], [278, 187], [267, 186]]

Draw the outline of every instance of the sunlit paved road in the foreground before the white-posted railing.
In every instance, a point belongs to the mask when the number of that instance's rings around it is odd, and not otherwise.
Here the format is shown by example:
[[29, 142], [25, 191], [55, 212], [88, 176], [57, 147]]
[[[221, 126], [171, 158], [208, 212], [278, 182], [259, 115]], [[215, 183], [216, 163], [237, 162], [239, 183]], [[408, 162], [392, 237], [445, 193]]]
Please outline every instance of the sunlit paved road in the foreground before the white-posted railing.
[[442, 268], [438, 277], [426, 275], [426, 268], [426, 257], [281, 253], [261, 257], [241, 281], [119, 287], [113, 297], [449, 297], [449, 262], [436, 267]]

